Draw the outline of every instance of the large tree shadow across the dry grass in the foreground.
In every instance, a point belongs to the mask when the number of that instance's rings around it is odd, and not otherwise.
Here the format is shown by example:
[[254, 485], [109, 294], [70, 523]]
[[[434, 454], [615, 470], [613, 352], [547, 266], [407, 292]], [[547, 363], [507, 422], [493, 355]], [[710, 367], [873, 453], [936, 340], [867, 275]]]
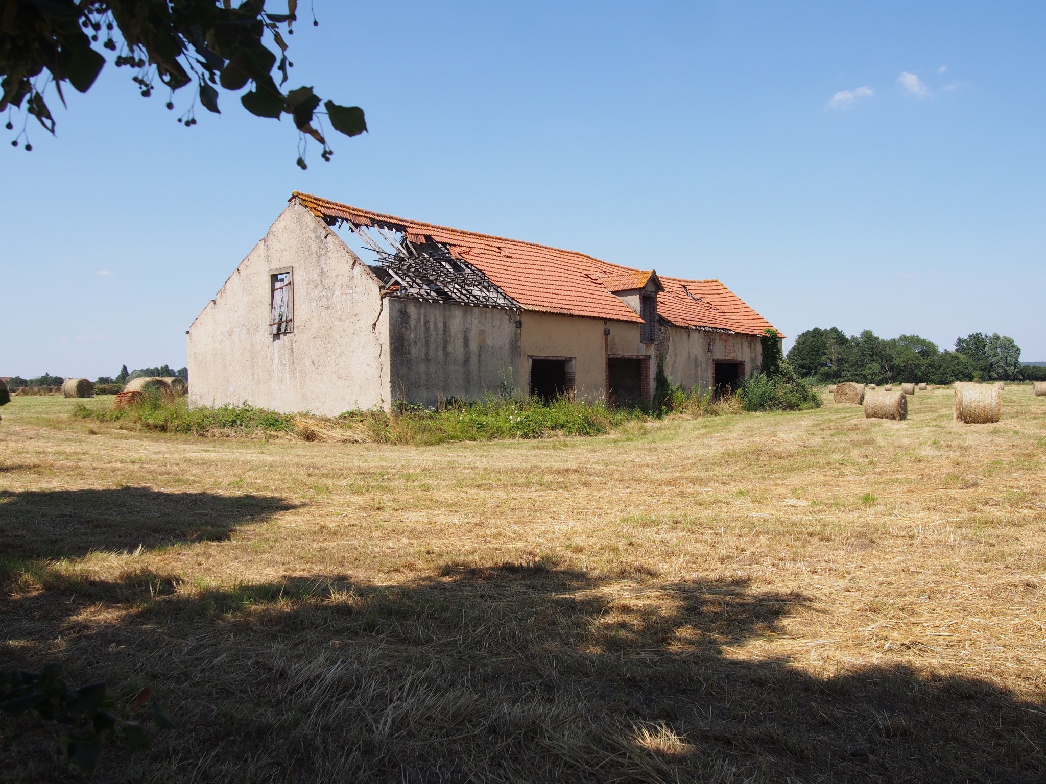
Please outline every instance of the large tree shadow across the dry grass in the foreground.
[[[9, 600], [32, 619], [13, 636], [61, 629], [67, 661], [93, 664], [82, 679], [140, 673], [168, 701], [183, 729], [151, 753], [156, 781], [1046, 780], [1046, 710], [987, 682], [726, 655], [806, 601], [743, 581], [540, 562], [400, 585], [37, 579]], [[76, 617], [96, 603], [119, 612]], [[29, 650], [0, 644], [47, 656]]]

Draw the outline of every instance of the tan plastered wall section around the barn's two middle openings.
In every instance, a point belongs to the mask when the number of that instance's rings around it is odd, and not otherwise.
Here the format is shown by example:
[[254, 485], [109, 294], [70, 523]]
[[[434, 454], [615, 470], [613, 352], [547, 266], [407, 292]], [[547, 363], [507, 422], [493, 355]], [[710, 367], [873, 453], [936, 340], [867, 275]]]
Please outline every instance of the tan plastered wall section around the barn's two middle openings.
[[[578, 400], [593, 401], [607, 394], [608, 349], [611, 355], [654, 354], [653, 345], [639, 342], [641, 324], [532, 312], [524, 313], [522, 321], [524, 370], [517, 384], [521, 390], [526, 389], [528, 356], [576, 356], [575, 395]], [[605, 327], [610, 329], [606, 342]]]

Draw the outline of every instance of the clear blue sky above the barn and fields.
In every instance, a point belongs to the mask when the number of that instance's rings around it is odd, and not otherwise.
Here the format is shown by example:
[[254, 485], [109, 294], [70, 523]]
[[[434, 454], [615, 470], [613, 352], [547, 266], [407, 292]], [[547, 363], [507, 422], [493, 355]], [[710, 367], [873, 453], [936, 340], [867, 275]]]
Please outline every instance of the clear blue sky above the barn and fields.
[[0, 375], [183, 365], [295, 189], [720, 278], [789, 336], [1046, 360], [1046, 4], [315, 6], [290, 86], [370, 128], [328, 164], [227, 93], [185, 129], [112, 65], [0, 148]]

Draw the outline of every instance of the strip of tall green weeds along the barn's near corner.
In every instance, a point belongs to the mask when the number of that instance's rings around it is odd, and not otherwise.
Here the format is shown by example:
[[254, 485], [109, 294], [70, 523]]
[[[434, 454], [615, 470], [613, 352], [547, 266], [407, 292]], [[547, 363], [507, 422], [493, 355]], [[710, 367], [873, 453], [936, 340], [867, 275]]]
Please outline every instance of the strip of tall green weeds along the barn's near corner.
[[329, 418], [280, 414], [246, 403], [189, 408], [185, 398], [172, 400], [158, 393], [147, 393], [142, 401], [126, 409], [77, 403], [73, 416], [161, 433], [391, 444], [597, 436], [630, 419], [645, 418], [638, 409], [612, 410], [602, 402], [565, 397], [546, 402], [490, 395], [478, 401], [452, 401], [434, 408], [401, 405], [392, 413], [350, 411]]

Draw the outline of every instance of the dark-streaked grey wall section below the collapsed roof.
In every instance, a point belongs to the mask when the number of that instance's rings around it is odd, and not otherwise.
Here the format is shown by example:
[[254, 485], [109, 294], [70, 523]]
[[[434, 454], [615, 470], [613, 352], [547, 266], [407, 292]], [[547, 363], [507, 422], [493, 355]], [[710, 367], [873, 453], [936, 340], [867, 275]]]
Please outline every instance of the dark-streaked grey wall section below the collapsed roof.
[[385, 308], [393, 400], [474, 400], [497, 393], [502, 378], [526, 381], [515, 312], [395, 297]]

